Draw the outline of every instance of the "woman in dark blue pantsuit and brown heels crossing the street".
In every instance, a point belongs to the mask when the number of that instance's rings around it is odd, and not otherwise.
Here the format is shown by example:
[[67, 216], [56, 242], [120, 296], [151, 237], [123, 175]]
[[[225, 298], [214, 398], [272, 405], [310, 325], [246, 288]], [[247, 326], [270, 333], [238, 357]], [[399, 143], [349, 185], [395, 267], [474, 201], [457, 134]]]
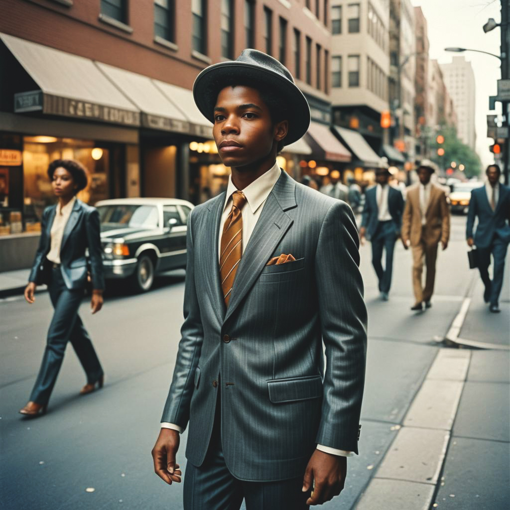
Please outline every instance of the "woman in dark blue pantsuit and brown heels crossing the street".
[[89, 334], [78, 315], [87, 283], [87, 249], [93, 288], [92, 313], [103, 306], [105, 283], [99, 214], [76, 197], [87, 186], [87, 173], [79, 162], [55, 160], [50, 163], [47, 173], [58, 202], [47, 207], [42, 215], [39, 247], [24, 296], [33, 303], [36, 286], [46, 284], [55, 311], [30, 401], [19, 411], [31, 417], [46, 412], [68, 341], [87, 376], [87, 384], [80, 391], [82, 395], [102, 387], [104, 376]]

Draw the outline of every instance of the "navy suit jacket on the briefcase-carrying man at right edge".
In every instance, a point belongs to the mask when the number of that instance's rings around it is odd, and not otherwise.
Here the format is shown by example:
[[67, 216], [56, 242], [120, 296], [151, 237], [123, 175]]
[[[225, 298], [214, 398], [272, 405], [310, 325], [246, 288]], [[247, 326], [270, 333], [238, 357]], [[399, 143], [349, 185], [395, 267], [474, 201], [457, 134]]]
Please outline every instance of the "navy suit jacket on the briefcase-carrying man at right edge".
[[508, 224], [510, 221], [510, 188], [499, 184], [499, 198], [494, 211], [489, 203], [485, 186], [471, 192], [466, 238], [473, 237], [476, 216], [478, 216], [478, 225], [474, 242], [478, 248], [488, 248], [496, 236], [503, 242], [510, 242], [510, 225]]

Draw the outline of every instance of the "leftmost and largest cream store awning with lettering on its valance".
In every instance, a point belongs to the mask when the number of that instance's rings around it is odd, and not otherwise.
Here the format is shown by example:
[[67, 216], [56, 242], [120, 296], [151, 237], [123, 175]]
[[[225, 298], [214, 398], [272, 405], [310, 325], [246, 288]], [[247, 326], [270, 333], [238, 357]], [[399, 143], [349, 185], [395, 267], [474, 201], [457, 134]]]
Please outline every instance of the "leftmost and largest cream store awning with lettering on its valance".
[[89, 59], [0, 33], [0, 39], [38, 89], [14, 94], [14, 112], [60, 115], [129, 126], [138, 108]]

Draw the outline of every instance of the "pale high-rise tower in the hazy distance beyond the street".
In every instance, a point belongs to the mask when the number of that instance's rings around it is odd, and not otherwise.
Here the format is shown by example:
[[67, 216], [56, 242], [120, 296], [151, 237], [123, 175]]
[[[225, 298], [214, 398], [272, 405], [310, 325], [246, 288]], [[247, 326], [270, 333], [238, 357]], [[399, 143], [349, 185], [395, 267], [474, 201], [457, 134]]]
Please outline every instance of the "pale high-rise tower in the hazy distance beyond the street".
[[444, 82], [457, 114], [457, 135], [475, 149], [475, 75], [471, 62], [464, 56], [453, 57], [448, 64], [440, 64]]

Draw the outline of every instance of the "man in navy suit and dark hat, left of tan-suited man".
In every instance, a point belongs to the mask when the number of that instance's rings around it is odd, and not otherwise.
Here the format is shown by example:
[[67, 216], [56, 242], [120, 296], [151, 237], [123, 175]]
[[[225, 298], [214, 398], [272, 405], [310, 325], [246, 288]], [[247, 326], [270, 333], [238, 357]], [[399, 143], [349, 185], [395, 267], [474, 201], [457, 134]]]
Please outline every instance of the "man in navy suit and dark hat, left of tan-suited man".
[[[391, 173], [387, 168], [375, 172], [376, 186], [365, 193], [360, 237], [368, 236], [372, 244], [372, 265], [379, 280], [379, 292], [388, 301], [393, 271], [395, 242], [400, 236], [404, 200], [402, 193], [388, 184]], [[386, 264], [382, 268], [382, 251], [386, 251]]]

